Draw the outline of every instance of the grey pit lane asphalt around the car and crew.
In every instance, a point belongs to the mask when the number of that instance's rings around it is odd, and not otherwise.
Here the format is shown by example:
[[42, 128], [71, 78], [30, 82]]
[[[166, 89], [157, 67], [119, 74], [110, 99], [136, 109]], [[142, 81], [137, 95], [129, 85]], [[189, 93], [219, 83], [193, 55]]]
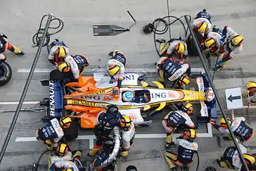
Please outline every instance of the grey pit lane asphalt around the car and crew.
[[[68, 7], [66, 7], [67, 3]], [[141, 27], [147, 22], [152, 22], [155, 18], [167, 15], [166, 1], [110, 0], [102, 2], [74, 0], [71, 3], [64, 0], [59, 3], [58, 1], [46, 0], [33, 1], [31, 3], [31, 1], [23, 0], [3, 1], [1, 5], [3, 5], [3, 8], [0, 14], [5, 16], [1, 18], [1, 32], [6, 33], [10, 42], [20, 46], [26, 52], [24, 57], [16, 57], [10, 52], [6, 52], [8, 63], [12, 66], [14, 74], [10, 84], [0, 88], [1, 101], [18, 101], [20, 97], [27, 74], [21, 74], [17, 71], [18, 69], [30, 69], [31, 67], [36, 52], [36, 48], [31, 48], [31, 38], [38, 29], [40, 19], [44, 14], [53, 13], [63, 20], [64, 29], [57, 36], [68, 44], [72, 53], [87, 56], [91, 65], [105, 65], [107, 59], [109, 59], [107, 53], [109, 50], [116, 48], [127, 55], [128, 64], [131, 67], [132, 65], [134, 67], [145, 67], [145, 64], [152, 65], [158, 60], [152, 35], [143, 35]], [[253, 0], [248, 0], [246, 3], [244, 1], [216, 0], [214, 4], [210, 3], [210, 1], [200, 1], [199, 4], [195, 0], [170, 2], [171, 15], [179, 17], [183, 14], [190, 14], [193, 16], [205, 7], [212, 13], [214, 25], [221, 28], [229, 25], [238, 33], [244, 35], [243, 51], [236, 59], [229, 62], [227, 68], [216, 74], [214, 83], [217, 89], [221, 89], [219, 94], [223, 98], [225, 97], [225, 89], [243, 87], [246, 81], [255, 77], [255, 62], [253, 62], [255, 61], [255, 6], [256, 2]], [[112, 10], [113, 7], [115, 7], [115, 10]], [[122, 33], [116, 37], [93, 37], [92, 25], [114, 24], [126, 27], [132, 24], [132, 20], [126, 14], [126, 10], [130, 10], [137, 19], [137, 25], [132, 27], [129, 33]], [[173, 37], [178, 36], [181, 28], [180, 26], [171, 27]], [[168, 35], [159, 37], [166, 38]], [[212, 61], [215, 61], [215, 58]], [[188, 62], [192, 63], [192, 67], [201, 67], [197, 57], [191, 57]], [[37, 68], [45, 69], [49, 67], [51, 65], [46, 60], [46, 49], [44, 48]], [[26, 97], [27, 101], [40, 100], [48, 95], [47, 87], [41, 87], [40, 85], [40, 77], [46, 78], [47, 76], [46, 74], [35, 74], [33, 76]], [[3, 109], [16, 108], [16, 106], [3, 107]], [[237, 113], [240, 114], [240, 111]], [[40, 153], [44, 151], [44, 146], [40, 142], [14, 142], [14, 139], [20, 136], [34, 136], [37, 126], [42, 125], [40, 117], [42, 117], [42, 114], [33, 112], [20, 113], [0, 170], [26, 170], [29, 168], [25, 166], [31, 165], [38, 159]], [[6, 127], [10, 123], [11, 113], [0, 114], [0, 119], [0, 138], [3, 140]], [[254, 117], [246, 119], [250, 121], [250, 125], [255, 125]], [[151, 133], [152, 131], [158, 132], [161, 129], [157, 127], [157, 129], [152, 128], [145, 131]], [[214, 159], [223, 153], [225, 147], [232, 145], [231, 142], [224, 142], [220, 138], [220, 134], [216, 132], [214, 132], [213, 138], [199, 138], [198, 142], [201, 169], [205, 168], [205, 166], [216, 166]], [[164, 139], [162, 138], [135, 140], [128, 161], [119, 161], [118, 170], [124, 170], [129, 164], [135, 164], [140, 170], [168, 170], [165, 159], [162, 157], [162, 152], [164, 151], [162, 144], [164, 144]], [[250, 141], [247, 145], [253, 147], [253, 144], [255, 144], [255, 140]], [[88, 142], [83, 140], [73, 142], [72, 148], [88, 149]], [[84, 151], [83, 158], [89, 162], [91, 159], [85, 157], [86, 152]], [[42, 161], [45, 163], [46, 157]]]

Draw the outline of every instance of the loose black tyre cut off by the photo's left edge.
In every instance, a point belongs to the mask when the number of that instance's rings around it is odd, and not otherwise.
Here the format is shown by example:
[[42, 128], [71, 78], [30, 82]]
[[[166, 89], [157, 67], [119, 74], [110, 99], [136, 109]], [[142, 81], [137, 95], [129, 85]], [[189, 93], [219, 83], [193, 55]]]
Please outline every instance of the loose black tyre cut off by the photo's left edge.
[[12, 68], [4, 61], [0, 62], [0, 86], [7, 84], [12, 77]]

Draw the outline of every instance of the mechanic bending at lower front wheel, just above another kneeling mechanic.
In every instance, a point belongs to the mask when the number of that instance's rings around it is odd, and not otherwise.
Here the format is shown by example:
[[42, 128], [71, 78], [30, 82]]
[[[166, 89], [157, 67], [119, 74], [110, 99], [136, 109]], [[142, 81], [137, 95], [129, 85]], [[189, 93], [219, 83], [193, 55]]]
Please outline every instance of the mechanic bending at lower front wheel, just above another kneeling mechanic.
[[167, 131], [167, 137], [166, 137], [166, 148], [171, 148], [175, 143], [173, 142], [172, 133], [173, 131], [179, 127], [180, 125], [186, 125], [190, 128], [197, 129], [193, 121], [188, 116], [189, 114], [192, 114], [193, 112], [193, 105], [192, 104], [184, 104], [182, 106], [182, 110], [176, 110], [171, 111], [169, 114], [167, 114], [162, 121], [162, 126]]

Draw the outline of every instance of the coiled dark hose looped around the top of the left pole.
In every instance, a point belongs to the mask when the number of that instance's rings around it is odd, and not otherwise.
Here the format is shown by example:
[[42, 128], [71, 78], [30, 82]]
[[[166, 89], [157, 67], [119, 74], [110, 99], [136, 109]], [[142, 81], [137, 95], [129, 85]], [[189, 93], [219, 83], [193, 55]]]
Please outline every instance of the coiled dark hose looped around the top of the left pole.
[[[44, 29], [45, 29], [45, 28], [42, 28], [42, 23], [44, 22], [44, 18], [46, 18], [46, 16], [48, 16], [48, 15], [49, 15], [49, 14], [44, 15], [44, 16], [42, 17], [41, 22], [40, 22], [40, 26], [39, 26], [39, 29], [38, 29], [38, 33], [35, 33], [35, 35], [33, 35], [33, 47], [39, 46], [39, 44], [40, 44], [40, 40], [41, 40], [41, 38], [42, 38], [42, 34], [44, 33]], [[45, 39], [45, 43], [43, 44], [43, 47], [44, 47], [44, 46], [47, 46], [48, 43], [50, 42], [50, 36], [51, 36], [51, 35], [55, 35], [56, 33], [59, 33], [59, 31], [61, 31], [61, 30], [63, 29], [63, 26], [64, 26], [63, 21], [60, 20], [59, 18], [55, 18], [54, 16], [53, 16], [53, 19], [51, 20], [51, 22], [56, 22], [56, 23], [57, 23], [57, 26], [56, 26], [56, 27], [51, 27], [51, 26], [50, 26], [50, 27], [48, 28], [48, 31], [49, 31], [50, 29], [55, 30], [55, 31], [53, 31], [53, 33], [49, 33], [49, 32], [47, 31], [47, 33], [46, 33], [46, 39]], [[50, 24], [50, 25], [51, 25], [51, 24]], [[56, 30], [57, 30], [57, 31], [56, 31]]]

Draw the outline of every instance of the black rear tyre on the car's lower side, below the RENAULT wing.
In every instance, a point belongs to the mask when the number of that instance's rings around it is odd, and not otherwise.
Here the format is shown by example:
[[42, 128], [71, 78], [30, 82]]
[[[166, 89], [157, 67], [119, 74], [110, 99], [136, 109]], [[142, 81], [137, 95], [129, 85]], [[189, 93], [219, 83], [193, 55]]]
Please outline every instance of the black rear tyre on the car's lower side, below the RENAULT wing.
[[63, 129], [66, 140], [75, 140], [79, 136], [79, 123], [72, 120], [70, 127]]

